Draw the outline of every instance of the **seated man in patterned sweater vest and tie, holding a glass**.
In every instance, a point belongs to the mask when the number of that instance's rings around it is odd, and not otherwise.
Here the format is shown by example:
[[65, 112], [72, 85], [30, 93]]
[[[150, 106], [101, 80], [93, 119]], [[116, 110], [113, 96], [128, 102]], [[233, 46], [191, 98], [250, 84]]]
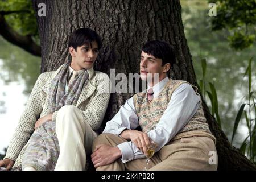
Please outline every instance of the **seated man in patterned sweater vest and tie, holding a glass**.
[[[217, 156], [216, 139], [196, 86], [167, 77], [174, 60], [166, 42], [153, 40], [143, 46], [141, 79], [148, 88], [127, 100], [94, 140], [91, 156], [97, 170], [143, 170], [152, 141], [157, 146], [150, 170], [217, 169], [217, 160], [209, 160], [209, 154]], [[142, 131], [135, 130], [138, 126]]]

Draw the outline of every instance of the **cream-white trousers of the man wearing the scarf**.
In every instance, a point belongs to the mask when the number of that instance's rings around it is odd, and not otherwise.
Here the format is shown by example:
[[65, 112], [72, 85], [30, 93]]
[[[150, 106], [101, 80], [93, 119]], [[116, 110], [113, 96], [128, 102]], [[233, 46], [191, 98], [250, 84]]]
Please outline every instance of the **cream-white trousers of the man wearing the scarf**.
[[92, 143], [97, 134], [84, 121], [82, 111], [75, 106], [61, 107], [56, 117], [56, 134], [60, 155], [55, 170], [84, 170], [86, 152], [92, 152]]

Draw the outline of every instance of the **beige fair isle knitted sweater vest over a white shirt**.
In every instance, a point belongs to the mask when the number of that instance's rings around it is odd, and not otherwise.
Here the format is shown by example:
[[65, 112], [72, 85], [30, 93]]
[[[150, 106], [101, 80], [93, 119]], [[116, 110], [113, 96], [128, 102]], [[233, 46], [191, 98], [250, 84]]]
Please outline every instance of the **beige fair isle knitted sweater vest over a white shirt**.
[[[148, 132], [154, 129], [154, 126], [159, 122], [164, 111], [167, 109], [172, 93], [174, 93], [175, 89], [183, 83], [189, 84], [183, 80], [170, 79], [164, 86], [164, 89], [159, 93], [158, 97], [154, 98], [151, 102], [147, 100], [146, 92], [140, 92], [134, 95], [134, 105], [139, 118], [139, 126], [141, 126], [143, 132]], [[197, 87], [193, 85], [191, 86], [196, 94], [199, 94], [197, 93]], [[208, 123], [204, 117], [201, 98], [199, 109], [197, 109], [191, 120], [188, 121], [187, 125], [185, 125], [177, 134], [189, 133], [189, 131], [199, 131], [211, 134]]]

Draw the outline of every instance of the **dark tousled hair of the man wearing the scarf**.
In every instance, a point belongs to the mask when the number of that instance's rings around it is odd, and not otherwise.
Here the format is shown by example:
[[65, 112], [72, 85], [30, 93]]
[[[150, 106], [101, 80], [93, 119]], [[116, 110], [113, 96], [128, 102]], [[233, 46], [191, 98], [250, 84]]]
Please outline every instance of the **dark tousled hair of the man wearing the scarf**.
[[78, 46], [83, 46], [84, 44], [90, 44], [92, 46], [93, 41], [97, 42], [98, 49], [100, 49], [102, 46], [100, 36], [89, 28], [79, 28], [69, 36], [68, 47], [72, 46], [76, 50]]

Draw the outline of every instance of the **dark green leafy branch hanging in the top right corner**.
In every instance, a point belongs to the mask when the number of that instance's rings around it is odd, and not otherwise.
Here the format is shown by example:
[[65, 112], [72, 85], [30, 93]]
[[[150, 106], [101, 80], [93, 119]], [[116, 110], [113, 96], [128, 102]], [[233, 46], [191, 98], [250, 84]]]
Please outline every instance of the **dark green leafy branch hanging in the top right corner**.
[[212, 30], [229, 31], [230, 46], [236, 50], [250, 47], [255, 41], [255, 0], [217, 0], [217, 16], [212, 18]]

